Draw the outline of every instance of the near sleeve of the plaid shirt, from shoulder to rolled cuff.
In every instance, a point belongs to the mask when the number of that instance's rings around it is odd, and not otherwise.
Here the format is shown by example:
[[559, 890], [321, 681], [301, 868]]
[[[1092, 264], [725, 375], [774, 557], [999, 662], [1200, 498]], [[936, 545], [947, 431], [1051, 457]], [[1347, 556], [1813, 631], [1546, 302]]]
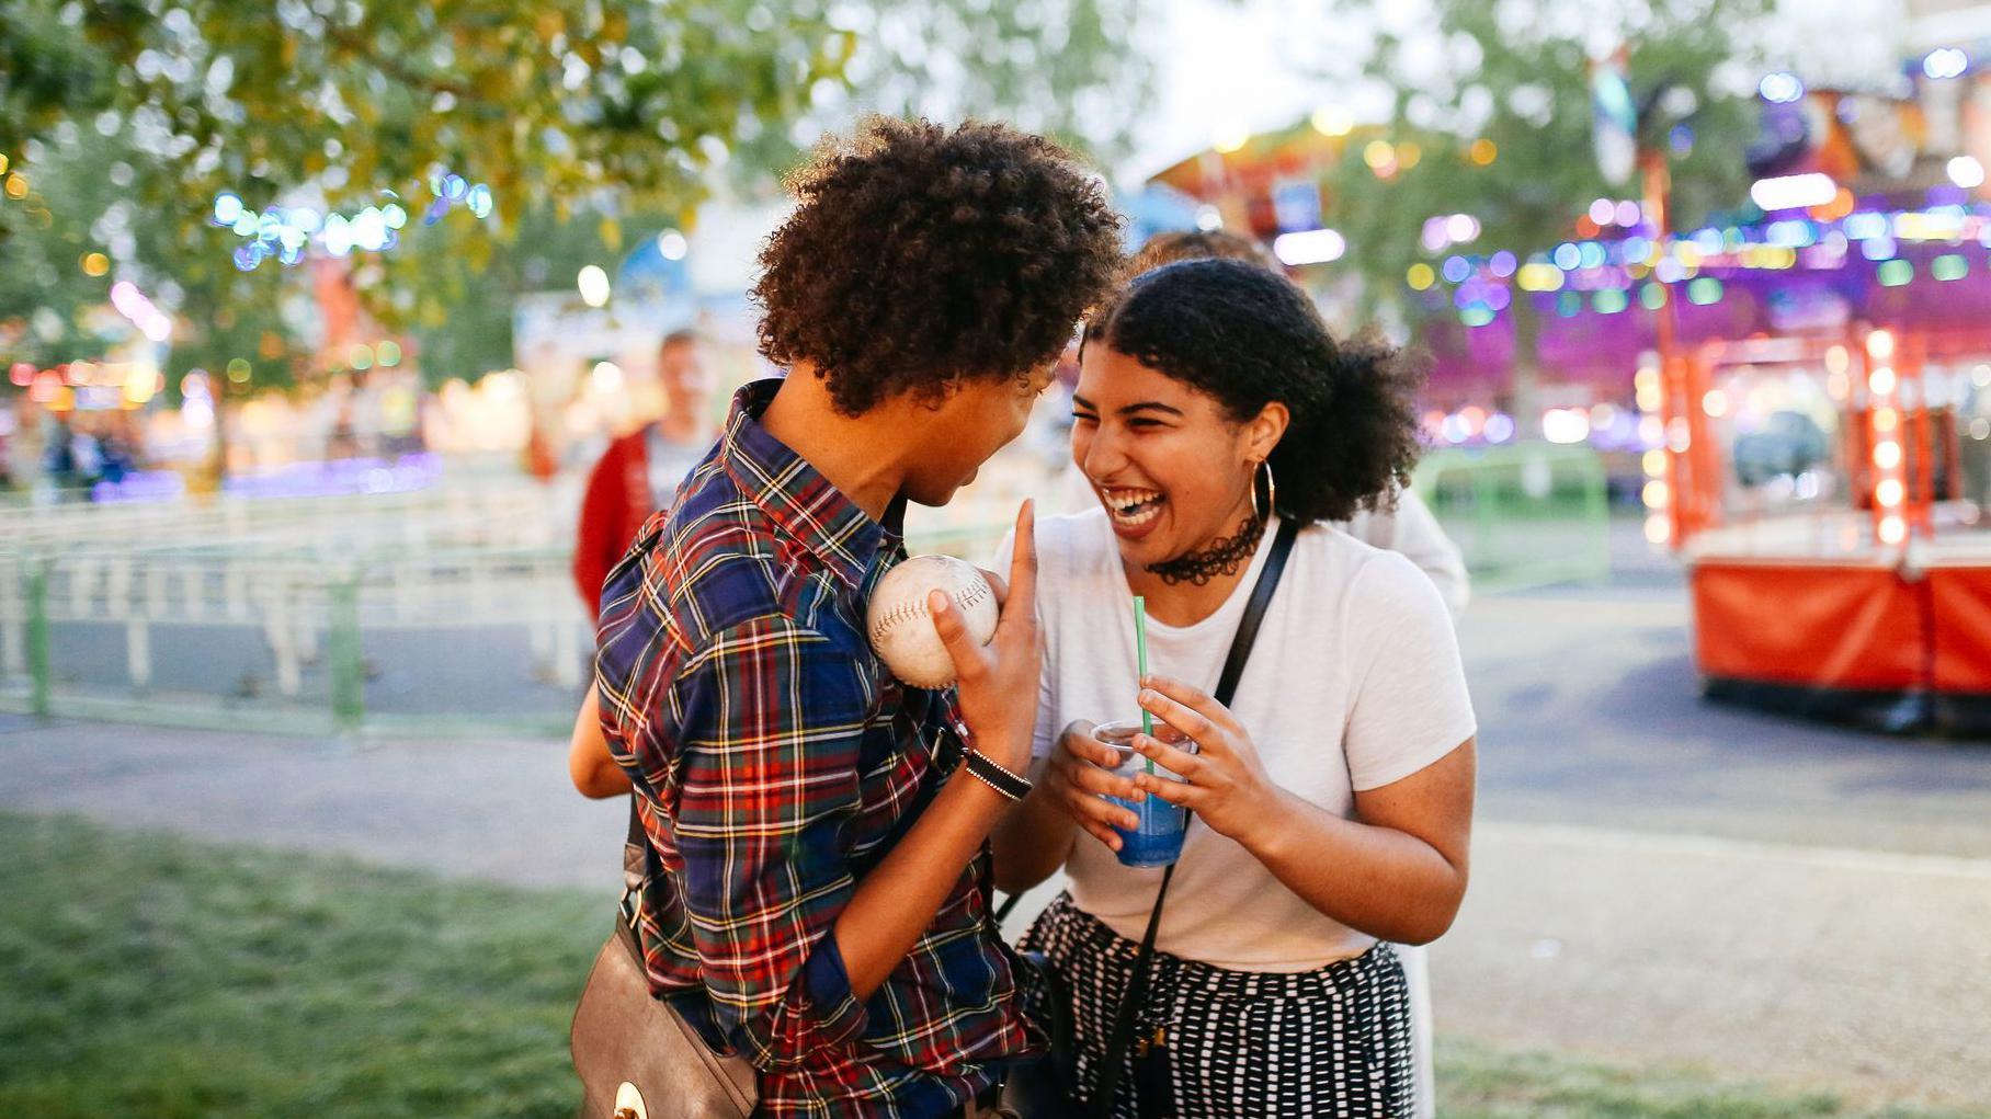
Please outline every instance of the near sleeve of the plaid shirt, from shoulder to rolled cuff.
[[868, 681], [790, 619], [717, 635], [673, 687], [683, 733], [675, 832], [713, 1019], [765, 1071], [864, 1031], [836, 918], [856, 886]]

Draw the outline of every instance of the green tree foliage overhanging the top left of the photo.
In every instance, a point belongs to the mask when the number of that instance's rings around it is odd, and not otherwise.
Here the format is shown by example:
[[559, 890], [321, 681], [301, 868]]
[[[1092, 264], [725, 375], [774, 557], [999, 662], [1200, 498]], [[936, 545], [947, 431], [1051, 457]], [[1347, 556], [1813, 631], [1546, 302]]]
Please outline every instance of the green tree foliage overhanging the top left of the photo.
[[[125, 277], [189, 327], [175, 368], [247, 356], [281, 382], [309, 358], [309, 315], [283, 315], [303, 269], [237, 273], [211, 199], [350, 213], [390, 189], [410, 225], [400, 249], [354, 253], [368, 311], [420, 331], [448, 372], [490, 368], [536, 277], [613, 263], [623, 223], [689, 225], [717, 163], [765, 185], [852, 106], [1009, 115], [1117, 149], [1147, 74], [1115, 46], [1133, 20], [1131, 0], [834, 16], [826, 0], [16, 0], [0, 153], [36, 195], [0, 197], [0, 253], [30, 261], [0, 279], [0, 356], [98, 356], [80, 313]], [[110, 165], [125, 171], [84, 181]], [[494, 215], [416, 227], [436, 169], [488, 183]], [[145, 227], [121, 253], [104, 229], [117, 205]], [[110, 275], [82, 273], [92, 249]]]

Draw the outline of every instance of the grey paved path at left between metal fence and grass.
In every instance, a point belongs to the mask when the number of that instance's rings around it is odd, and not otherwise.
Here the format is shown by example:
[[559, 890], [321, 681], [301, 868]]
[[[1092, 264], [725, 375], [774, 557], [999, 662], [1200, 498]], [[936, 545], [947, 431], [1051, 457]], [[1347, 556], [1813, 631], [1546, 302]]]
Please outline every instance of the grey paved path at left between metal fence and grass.
[[348, 747], [26, 719], [0, 723], [0, 806], [603, 890], [621, 882], [629, 820], [573, 792], [563, 743]]

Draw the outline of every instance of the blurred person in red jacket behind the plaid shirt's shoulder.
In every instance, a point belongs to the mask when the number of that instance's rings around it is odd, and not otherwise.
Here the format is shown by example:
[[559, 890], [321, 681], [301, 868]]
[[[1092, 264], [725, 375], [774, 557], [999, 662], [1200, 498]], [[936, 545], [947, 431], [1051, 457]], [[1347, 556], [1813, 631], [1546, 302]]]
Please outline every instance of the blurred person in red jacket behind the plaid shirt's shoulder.
[[601, 583], [649, 514], [671, 504], [677, 484], [705, 458], [717, 434], [711, 420], [713, 374], [691, 331], [671, 331], [657, 348], [657, 378], [669, 404], [661, 420], [611, 442], [587, 476], [573, 544], [573, 585], [587, 617], [601, 617]]

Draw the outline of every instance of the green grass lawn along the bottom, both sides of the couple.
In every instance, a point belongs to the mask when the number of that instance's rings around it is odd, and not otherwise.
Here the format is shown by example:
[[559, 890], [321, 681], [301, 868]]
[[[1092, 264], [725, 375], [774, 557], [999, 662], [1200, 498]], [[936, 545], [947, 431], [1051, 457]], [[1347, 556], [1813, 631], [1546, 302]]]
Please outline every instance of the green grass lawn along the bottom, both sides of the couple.
[[[607, 900], [0, 812], [0, 1117], [567, 1119]], [[1445, 1119], [1991, 1119], [1439, 1045]]]

